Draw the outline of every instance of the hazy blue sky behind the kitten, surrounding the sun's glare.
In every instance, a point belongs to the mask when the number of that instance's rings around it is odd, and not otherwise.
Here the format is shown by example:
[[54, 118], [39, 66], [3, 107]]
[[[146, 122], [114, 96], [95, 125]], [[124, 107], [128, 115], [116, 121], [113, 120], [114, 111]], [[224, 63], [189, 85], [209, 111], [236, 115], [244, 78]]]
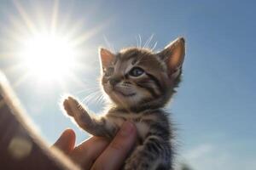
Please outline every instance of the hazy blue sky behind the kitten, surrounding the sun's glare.
[[[19, 1], [31, 20], [40, 27], [51, 20], [53, 1]], [[97, 30], [79, 44], [84, 54], [79, 56], [83, 68], [74, 74], [84, 85], [65, 80], [40, 84], [32, 77], [16, 83], [22, 69], [9, 69], [18, 63], [15, 39], [26, 29], [14, 3], [0, 3], [0, 69], [14, 85], [38, 131], [49, 144], [66, 127], [76, 130], [78, 141], [86, 134], [61, 114], [60, 100], [69, 93], [83, 99], [98, 89], [100, 75], [97, 48], [115, 50], [136, 46], [138, 36], [146, 42], [154, 34], [152, 44], [161, 49], [179, 36], [186, 38], [187, 54], [183, 65], [183, 82], [168, 109], [177, 123], [177, 152], [197, 170], [253, 169], [256, 167], [256, 22], [253, 1], [74, 1], [59, 3], [57, 27], [63, 32], [80, 23], [80, 34]], [[15, 27], [12, 19], [19, 21]], [[15, 27], [15, 28], [14, 28]], [[100, 29], [98, 29], [100, 28]], [[62, 32], [62, 33], [63, 33]], [[108, 42], [105, 39], [108, 39]], [[88, 90], [87, 90], [88, 89]], [[89, 99], [90, 100], [90, 99]], [[92, 111], [101, 111], [102, 102], [87, 102]]]

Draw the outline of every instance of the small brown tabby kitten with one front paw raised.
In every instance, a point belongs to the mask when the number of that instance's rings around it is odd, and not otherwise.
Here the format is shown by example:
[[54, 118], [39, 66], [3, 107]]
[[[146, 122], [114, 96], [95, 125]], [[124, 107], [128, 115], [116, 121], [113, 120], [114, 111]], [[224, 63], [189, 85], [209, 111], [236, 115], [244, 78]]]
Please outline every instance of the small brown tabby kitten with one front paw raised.
[[126, 120], [137, 127], [138, 144], [124, 169], [172, 169], [173, 128], [164, 106], [180, 82], [185, 44], [177, 38], [159, 53], [125, 48], [118, 54], [100, 48], [102, 87], [113, 105], [96, 118], [72, 97], [64, 101], [69, 116], [88, 133], [112, 139]]

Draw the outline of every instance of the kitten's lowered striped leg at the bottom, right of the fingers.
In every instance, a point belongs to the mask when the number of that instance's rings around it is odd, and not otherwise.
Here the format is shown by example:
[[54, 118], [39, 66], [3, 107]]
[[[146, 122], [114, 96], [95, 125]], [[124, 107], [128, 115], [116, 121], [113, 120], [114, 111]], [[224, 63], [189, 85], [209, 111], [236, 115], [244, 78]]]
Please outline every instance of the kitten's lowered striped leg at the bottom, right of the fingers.
[[129, 156], [125, 162], [125, 170], [172, 170], [171, 143], [152, 131]]

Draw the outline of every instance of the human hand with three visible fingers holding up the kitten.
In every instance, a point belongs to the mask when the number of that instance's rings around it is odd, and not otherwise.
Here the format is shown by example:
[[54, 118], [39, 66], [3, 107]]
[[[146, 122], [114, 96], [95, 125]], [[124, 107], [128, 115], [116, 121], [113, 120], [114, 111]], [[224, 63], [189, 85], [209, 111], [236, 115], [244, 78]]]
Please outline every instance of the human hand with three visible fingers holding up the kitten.
[[91, 137], [75, 147], [75, 133], [67, 129], [54, 146], [86, 170], [119, 169], [136, 139], [136, 127], [131, 122], [125, 122], [110, 144], [106, 139]]

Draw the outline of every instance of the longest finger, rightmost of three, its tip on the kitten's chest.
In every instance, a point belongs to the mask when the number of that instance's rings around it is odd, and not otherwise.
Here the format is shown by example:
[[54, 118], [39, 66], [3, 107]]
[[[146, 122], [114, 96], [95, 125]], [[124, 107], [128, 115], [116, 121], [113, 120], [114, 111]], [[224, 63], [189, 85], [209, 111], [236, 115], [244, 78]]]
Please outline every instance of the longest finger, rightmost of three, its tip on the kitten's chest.
[[92, 169], [119, 169], [122, 167], [126, 156], [135, 144], [137, 130], [131, 122], [125, 122], [113, 141], [96, 160]]

